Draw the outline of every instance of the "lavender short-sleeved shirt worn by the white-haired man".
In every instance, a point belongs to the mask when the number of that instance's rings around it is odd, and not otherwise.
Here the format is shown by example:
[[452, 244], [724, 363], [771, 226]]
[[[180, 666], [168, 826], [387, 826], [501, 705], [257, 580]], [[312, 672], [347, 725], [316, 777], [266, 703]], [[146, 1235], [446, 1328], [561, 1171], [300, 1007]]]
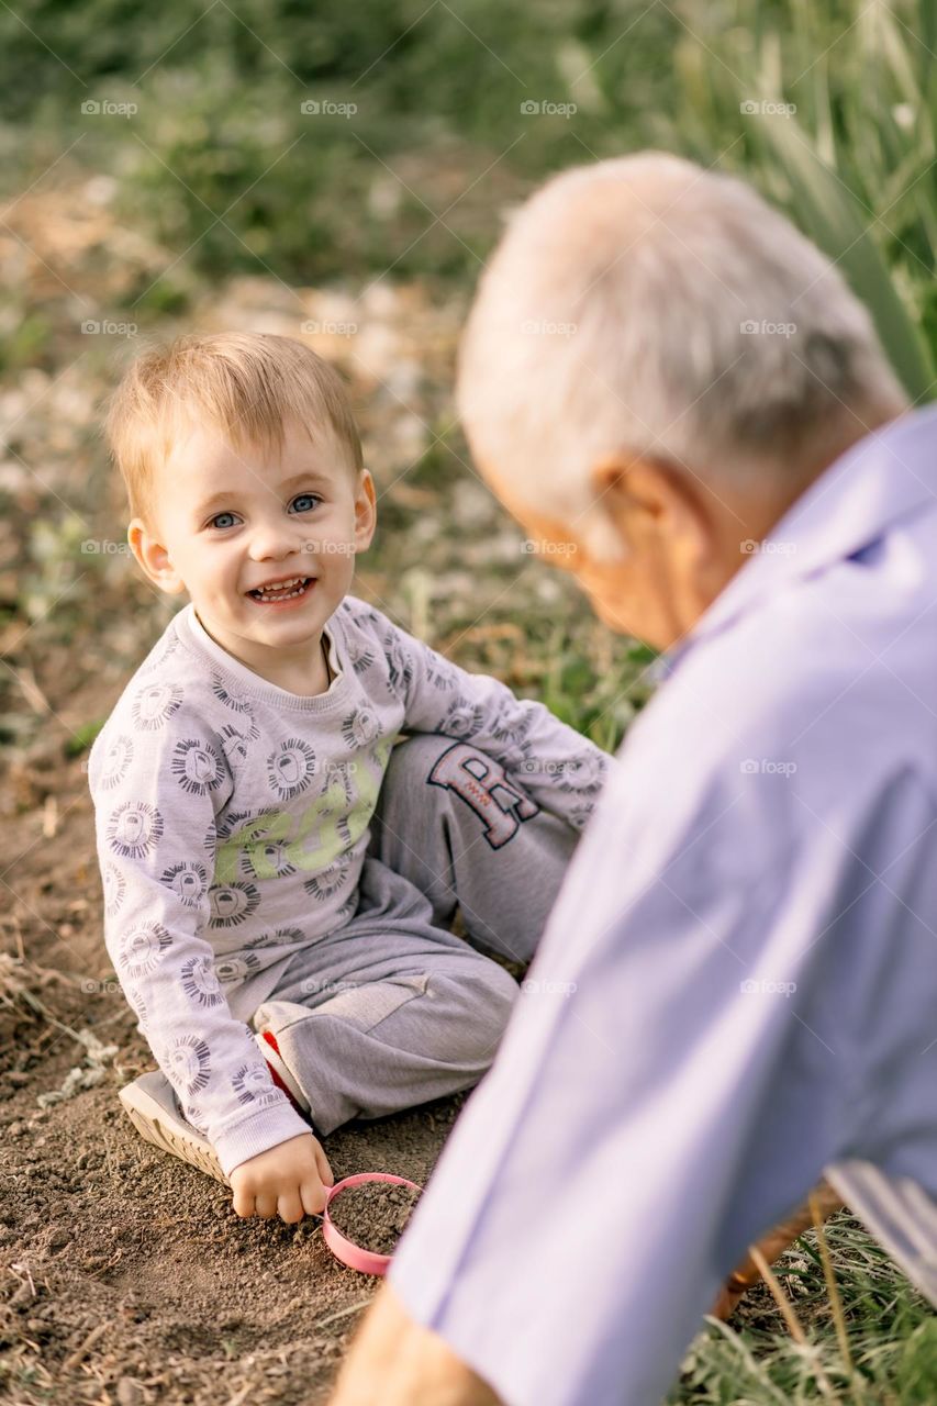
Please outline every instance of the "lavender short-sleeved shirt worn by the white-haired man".
[[937, 411], [663, 662], [390, 1275], [509, 1406], [658, 1402], [824, 1168], [937, 1302]]

